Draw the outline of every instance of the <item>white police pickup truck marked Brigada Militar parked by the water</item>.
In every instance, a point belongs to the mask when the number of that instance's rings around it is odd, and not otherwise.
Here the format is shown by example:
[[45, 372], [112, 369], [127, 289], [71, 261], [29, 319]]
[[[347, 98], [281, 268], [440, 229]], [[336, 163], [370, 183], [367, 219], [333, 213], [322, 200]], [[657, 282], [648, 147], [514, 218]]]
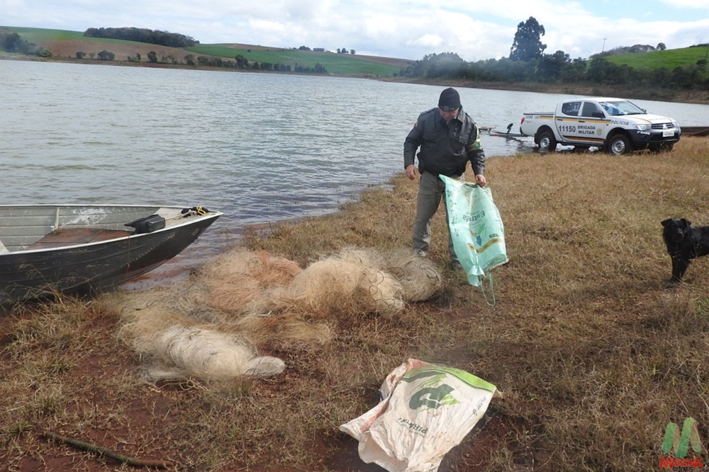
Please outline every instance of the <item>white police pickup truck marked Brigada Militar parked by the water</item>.
[[553, 113], [524, 113], [520, 133], [534, 137], [541, 151], [562, 144], [626, 154], [635, 149], [669, 151], [681, 129], [675, 120], [649, 115], [622, 98], [574, 98], [559, 102]]

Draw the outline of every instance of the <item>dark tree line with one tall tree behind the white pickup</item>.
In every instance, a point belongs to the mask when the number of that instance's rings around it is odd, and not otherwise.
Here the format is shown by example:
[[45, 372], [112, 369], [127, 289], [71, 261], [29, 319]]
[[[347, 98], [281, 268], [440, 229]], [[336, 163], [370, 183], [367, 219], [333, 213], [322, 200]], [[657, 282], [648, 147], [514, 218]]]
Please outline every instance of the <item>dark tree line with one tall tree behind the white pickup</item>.
[[[501, 59], [485, 59], [466, 62], [458, 54], [444, 52], [427, 54], [406, 68], [401, 69], [401, 77], [425, 77], [427, 79], [462, 79], [479, 82], [540, 82], [545, 84], [598, 84], [615, 86], [648, 86], [660, 88], [681, 88], [709, 90], [706, 74], [707, 62], [700, 60], [686, 67], [638, 70], [627, 64], [614, 64], [607, 56], [639, 49], [640, 45], [611, 50], [606, 54], [595, 54], [590, 59], [571, 59], [564, 51], [545, 54], [547, 45], [542, 44], [544, 26], [530, 18], [519, 23], [517, 33], [510, 48], [510, 56]], [[664, 43], [657, 48], [664, 50]]]

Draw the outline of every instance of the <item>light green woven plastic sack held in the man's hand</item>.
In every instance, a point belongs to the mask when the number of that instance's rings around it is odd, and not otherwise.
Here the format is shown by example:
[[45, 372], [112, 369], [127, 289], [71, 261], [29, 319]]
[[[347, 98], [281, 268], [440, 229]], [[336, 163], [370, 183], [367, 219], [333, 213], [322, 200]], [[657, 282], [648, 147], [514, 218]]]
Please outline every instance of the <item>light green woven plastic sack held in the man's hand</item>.
[[453, 248], [468, 274], [479, 287], [490, 278], [493, 267], [508, 262], [505, 228], [492, 200], [490, 188], [440, 175], [445, 183], [448, 227]]

